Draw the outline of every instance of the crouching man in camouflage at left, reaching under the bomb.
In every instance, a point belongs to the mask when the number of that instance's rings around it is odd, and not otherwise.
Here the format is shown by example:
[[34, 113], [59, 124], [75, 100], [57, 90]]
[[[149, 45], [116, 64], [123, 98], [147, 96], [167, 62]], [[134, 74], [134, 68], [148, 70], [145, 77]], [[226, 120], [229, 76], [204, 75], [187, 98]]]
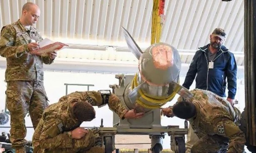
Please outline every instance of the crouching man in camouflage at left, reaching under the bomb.
[[92, 106], [108, 104], [120, 119], [140, 118], [143, 115], [135, 113], [134, 110], [128, 111], [121, 104], [121, 100], [110, 94], [110, 91], [109, 94], [100, 91], [73, 92], [45, 109], [33, 135], [33, 152], [104, 153], [104, 149], [96, 145], [100, 142], [99, 134], [79, 127], [83, 121], [90, 121], [95, 116], [88, 106], [89, 103]]

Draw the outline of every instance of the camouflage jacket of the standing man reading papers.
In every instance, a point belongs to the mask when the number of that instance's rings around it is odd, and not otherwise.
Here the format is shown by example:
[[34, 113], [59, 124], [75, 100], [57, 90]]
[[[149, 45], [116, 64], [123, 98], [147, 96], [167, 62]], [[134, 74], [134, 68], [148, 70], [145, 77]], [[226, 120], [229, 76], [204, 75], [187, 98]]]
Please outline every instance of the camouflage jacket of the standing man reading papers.
[[39, 31], [31, 26], [27, 29], [18, 20], [1, 30], [0, 55], [6, 57], [6, 81], [43, 81], [43, 63], [51, 64], [49, 56], [30, 54], [28, 43], [42, 41]]

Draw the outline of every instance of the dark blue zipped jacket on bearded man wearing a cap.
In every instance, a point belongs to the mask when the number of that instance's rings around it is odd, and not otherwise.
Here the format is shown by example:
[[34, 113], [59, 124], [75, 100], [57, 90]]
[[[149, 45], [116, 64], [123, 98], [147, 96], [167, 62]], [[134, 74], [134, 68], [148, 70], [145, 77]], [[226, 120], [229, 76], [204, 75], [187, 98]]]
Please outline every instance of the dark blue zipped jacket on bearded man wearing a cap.
[[209, 45], [199, 47], [196, 51], [182, 86], [189, 89], [196, 77], [196, 88], [209, 90], [220, 97], [226, 97], [226, 78], [228, 78], [228, 98], [234, 99], [237, 71], [235, 57], [225, 46], [222, 46], [212, 61], [213, 69], [209, 69]]

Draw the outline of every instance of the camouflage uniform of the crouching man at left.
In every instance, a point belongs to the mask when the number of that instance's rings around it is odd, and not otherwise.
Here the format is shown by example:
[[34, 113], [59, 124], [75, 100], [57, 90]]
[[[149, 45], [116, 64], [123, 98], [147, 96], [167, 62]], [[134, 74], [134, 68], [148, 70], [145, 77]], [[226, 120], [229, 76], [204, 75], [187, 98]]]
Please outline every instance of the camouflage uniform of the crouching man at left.
[[[88, 101], [93, 106], [100, 106], [102, 98], [99, 92], [73, 92], [60, 98], [58, 103], [50, 105], [45, 109], [43, 116], [36, 127], [32, 143], [34, 153], [76, 153], [86, 151], [95, 145], [99, 135], [95, 136], [89, 131], [81, 139], [72, 139], [71, 131], [81, 125], [81, 121], [74, 118], [70, 110], [72, 101]], [[114, 94], [109, 97], [108, 106], [123, 118], [127, 109], [121, 104], [121, 100]], [[95, 152], [95, 150], [91, 150]]]

